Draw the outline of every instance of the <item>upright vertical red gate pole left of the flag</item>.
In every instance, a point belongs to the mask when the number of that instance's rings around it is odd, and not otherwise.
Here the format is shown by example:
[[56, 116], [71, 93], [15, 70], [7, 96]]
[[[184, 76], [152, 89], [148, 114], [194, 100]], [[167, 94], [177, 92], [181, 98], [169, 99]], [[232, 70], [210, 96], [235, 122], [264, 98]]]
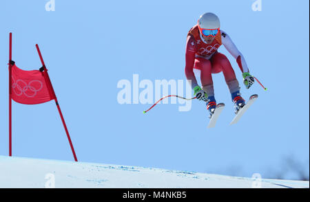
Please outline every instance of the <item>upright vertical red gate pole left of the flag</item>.
[[10, 33], [10, 45], [9, 45], [9, 156], [12, 157], [12, 33]]

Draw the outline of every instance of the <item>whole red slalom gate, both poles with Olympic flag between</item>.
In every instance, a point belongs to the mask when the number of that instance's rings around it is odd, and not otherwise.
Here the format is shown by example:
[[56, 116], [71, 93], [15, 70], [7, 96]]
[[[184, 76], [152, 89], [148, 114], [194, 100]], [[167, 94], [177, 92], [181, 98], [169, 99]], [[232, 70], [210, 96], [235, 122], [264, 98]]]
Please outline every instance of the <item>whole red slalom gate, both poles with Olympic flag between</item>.
[[41, 104], [50, 100], [55, 100], [61, 122], [65, 128], [68, 141], [72, 150], [74, 161], [77, 161], [74, 147], [69, 135], [63, 113], [56, 98], [48, 69], [46, 69], [39, 45], [36, 45], [42, 67], [39, 70], [25, 71], [19, 69], [12, 60], [12, 33], [10, 33], [9, 47], [9, 156], [12, 156], [12, 100], [21, 104]]

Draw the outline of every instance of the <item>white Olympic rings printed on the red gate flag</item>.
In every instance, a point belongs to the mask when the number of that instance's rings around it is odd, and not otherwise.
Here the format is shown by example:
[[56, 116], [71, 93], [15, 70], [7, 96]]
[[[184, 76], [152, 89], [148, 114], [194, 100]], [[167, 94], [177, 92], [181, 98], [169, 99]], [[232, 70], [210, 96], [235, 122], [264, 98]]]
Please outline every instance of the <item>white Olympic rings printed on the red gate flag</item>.
[[[25, 95], [28, 98], [33, 98], [34, 96], [37, 95], [39, 91], [41, 91], [41, 89], [43, 89], [43, 83], [41, 82], [41, 80], [32, 80], [29, 82], [29, 84], [27, 84], [25, 81], [21, 79], [15, 81], [13, 77], [12, 80], [13, 80], [12, 89], [17, 96]], [[35, 89], [32, 86], [35, 82], [39, 83], [40, 85], [39, 89]], [[19, 84], [23, 85], [23, 87], [21, 87], [21, 85]], [[26, 93], [28, 90], [33, 92], [32, 95]]]

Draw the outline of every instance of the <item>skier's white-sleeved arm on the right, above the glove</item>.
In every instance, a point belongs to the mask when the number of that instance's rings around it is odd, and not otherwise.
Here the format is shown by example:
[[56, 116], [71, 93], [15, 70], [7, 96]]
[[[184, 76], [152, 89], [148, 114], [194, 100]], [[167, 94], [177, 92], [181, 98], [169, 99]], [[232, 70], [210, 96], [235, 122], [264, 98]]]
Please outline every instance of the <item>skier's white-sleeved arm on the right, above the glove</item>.
[[247, 67], [247, 63], [245, 62], [245, 58], [237, 49], [236, 45], [231, 41], [231, 38], [228, 36], [227, 33], [220, 31], [222, 33], [222, 43], [227, 49], [227, 51], [233, 56], [240, 67], [242, 73], [249, 72], [249, 68]]

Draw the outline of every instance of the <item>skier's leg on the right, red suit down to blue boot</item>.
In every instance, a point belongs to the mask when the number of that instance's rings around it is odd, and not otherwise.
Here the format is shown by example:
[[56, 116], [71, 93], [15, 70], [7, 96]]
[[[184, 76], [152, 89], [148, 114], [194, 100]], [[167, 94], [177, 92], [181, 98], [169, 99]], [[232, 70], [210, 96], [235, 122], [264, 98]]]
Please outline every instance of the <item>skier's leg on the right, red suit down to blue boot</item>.
[[245, 105], [245, 100], [240, 96], [239, 82], [228, 58], [224, 54], [216, 52], [210, 61], [212, 64], [212, 73], [218, 73], [220, 70], [223, 71], [225, 81], [231, 93], [231, 100], [235, 104], [236, 111], [238, 111], [240, 107]]

